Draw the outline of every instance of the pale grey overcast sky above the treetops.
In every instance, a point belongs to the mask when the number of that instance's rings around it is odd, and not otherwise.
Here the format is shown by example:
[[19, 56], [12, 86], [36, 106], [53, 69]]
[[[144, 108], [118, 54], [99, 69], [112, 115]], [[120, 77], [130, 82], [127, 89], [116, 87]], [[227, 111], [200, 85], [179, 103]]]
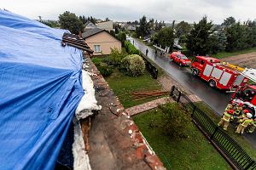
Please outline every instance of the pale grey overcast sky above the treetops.
[[139, 20], [144, 15], [157, 20], [190, 23], [207, 15], [220, 24], [229, 16], [256, 19], [255, 0], [0, 0], [0, 8], [31, 19], [57, 20], [66, 10], [77, 15], [108, 17], [114, 21]]

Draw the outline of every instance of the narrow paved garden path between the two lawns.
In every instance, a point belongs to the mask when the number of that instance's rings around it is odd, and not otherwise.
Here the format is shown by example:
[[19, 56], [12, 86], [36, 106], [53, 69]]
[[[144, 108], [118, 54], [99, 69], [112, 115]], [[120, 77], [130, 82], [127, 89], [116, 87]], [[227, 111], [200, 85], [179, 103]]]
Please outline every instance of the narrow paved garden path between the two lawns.
[[142, 113], [144, 111], [148, 111], [158, 107], [158, 105], [164, 105], [166, 103], [172, 102], [173, 100], [169, 97], [164, 97], [160, 99], [155, 99], [153, 101], [149, 101], [148, 103], [144, 103], [142, 105], [136, 105], [134, 107], [128, 108], [125, 111], [129, 116], [137, 115], [138, 113]]

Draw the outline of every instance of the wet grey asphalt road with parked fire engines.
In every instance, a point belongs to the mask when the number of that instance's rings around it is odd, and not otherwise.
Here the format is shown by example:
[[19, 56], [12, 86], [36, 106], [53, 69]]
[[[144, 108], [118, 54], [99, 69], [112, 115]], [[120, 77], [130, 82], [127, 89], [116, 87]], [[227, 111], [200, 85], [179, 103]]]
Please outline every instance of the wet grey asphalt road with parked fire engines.
[[[155, 57], [153, 48], [146, 46], [143, 42], [137, 41], [137, 39], [130, 39], [131, 43], [133, 43], [134, 40], [134, 46], [143, 54], [146, 54], [146, 49], [148, 48], [149, 59], [152, 59], [156, 65], [160, 66], [172, 78], [182, 84], [183, 87], [188, 88], [193, 94], [201, 98], [212, 110], [216, 111], [218, 115], [222, 115], [232, 94], [210, 88], [206, 81], [202, 80], [200, 77], [192, 76], [188, 67], [178, 66], [176, 63], [170, 62], [169, 58], [160, 56], [160, 53]], [[253, 135], [245, 133], [244, 136], [256, 147], [256, 133], [253, 133]]]

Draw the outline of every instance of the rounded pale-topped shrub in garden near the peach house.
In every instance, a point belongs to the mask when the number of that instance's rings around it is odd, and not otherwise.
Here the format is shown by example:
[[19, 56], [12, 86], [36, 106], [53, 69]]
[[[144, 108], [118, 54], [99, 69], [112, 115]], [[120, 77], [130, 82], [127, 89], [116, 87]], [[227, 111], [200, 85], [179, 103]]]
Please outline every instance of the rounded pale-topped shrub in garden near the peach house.
[[121, 69], [131, 77], [142, 75], [145, 71], [145, 62], [137, 54], [131, 54], [122, 59]]

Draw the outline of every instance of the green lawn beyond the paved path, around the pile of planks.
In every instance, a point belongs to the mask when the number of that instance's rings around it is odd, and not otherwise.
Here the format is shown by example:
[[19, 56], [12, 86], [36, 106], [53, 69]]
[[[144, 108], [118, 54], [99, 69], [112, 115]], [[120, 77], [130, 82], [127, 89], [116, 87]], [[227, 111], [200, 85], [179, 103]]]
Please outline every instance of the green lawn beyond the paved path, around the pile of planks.
[[161, 89], [159, 82], [151, 78], [148, 71], [145, 71], [145, 74], [139, 77], [129, 77], [120, 73], [118, 69], [115, 69], [113, 74], [105, 79], [108, 82], [109, 87], [113, 89], [113, 93], [119, 97], [121, 104], [124, 105], [125, 108], [141, 105], [156, 99], [150, 98], [136, 101], [132, 98], [132, 92]]

